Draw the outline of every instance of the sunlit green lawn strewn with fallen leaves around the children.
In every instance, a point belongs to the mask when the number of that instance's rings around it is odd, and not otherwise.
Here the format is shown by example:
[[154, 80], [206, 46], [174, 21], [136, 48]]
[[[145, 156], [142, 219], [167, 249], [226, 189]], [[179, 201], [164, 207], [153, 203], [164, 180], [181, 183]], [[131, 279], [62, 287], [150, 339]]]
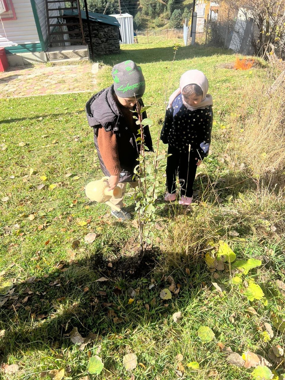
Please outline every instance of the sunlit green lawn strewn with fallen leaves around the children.
[[[127, 59], [140, 64], [156, 145], [177, 41], [152, 38], [147, 44], [140, 37], [139, 42], [102, 58], [94, 92], [112, 83], [113, 64]], [[228, 51], [192, 46], [176, 53], [167, 98], [184, 71], [204, 71], [214, 98], [212, 152], [198, 171], [195, 204], [189, 212], [174, 205], [157, 213], [152, 252], [138, 267], [136, 223], [113, 220], [107, 206], [89, 203], [84, 194], [84, 185], [101, 177], [84, 112], [92, 94], [0, 100], [0, 363], [18, 365], [14, 374], [3, 366], [5, 379], [50, 378], [44, 371], [61, 369], [57, 380], [84, 378], [93, 355], [104, 363], [100, 379], [250, 379], [253, 367], [230, 365], [222, 344], [268, 360], [272, 344], [283, 344], [271, 317], [282, 317], [284, 308], [275, 284], [284, 279], [284, 199], [264, 191], [257, 203], [254, 179], [224, 159], [230, 129], [236, 127], [228, 124], [228, 115], [245, 96], [244, 85], [261, 82], [266, 68], [220, 66], [235, 58]], [[159, 149], [166, 146], [160, 142]], [[159, 180], [162, 197], [163, 173]], [[125, 202], [132, 211], [130, 194]], [[89, 232], [97, 234], [92, 244], [84, 242]], [[210, 238], [227, 242], [237, 259], [262, 264], [233, 283], [231, 265], [214, 272], [207, 268], [203, 257]], [[176, 294], [163, 300], [168, 275]], [[100, 277], [108, 280], [97, 281]], [[260, 285], [266, 302], [243, 294], [250, 280]], [[215, 290], [212, 282], [226, 290]], [[175, 323], [178, 311], [182, 318]], [[260, 334], [264, 322], [274, 331], [269, 342]], [[212, 329], [211, 341], [201, 341], [201, 326]], [[74, 327], [84, 338], [98, 335], [80, 347], [70, 338]], [[123, 366], [127, 353], [137, 356], [130, 371]], [[194, 361], [199, 370], [187, 367]], [[277, 373], [283, 373], [282, 363]]]

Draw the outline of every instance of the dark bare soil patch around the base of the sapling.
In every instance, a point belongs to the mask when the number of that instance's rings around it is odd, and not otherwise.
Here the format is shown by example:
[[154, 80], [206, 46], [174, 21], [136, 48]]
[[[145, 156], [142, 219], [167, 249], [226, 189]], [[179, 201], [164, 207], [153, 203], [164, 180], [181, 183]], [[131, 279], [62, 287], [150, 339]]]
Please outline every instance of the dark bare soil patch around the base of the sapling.
[[92, 269], [108, 279], [139, 279], [151, 277], [158, 260], [159, 250], [151, 249], [143, 257], [138, 253], [133, 256], [120, 255], [112, 260], [97, 257], [92, 261]]

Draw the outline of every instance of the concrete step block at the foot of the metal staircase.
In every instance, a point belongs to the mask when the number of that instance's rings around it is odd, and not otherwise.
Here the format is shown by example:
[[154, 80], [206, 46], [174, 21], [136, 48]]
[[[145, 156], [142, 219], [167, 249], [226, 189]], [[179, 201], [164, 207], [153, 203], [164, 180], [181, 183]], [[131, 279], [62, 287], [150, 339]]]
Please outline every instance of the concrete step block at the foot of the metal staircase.
[[49, 47], [46, 56], [48, 61], [89, 58], [88, 45]]

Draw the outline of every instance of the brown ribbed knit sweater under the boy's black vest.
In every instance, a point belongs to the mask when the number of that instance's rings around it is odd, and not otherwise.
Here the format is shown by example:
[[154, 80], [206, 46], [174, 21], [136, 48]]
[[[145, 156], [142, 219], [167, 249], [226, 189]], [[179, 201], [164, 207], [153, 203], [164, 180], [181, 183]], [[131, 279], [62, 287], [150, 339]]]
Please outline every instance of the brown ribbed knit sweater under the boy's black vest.
[[[134, 114], [130, 111], [130, 108], [124, 107], [118, 104], [120, 111], [124, 117], [125, 125], [127, 125], [134, 134], [137, 134], [138, 126], [136, 125], [136, 120], [133, 118]], [[135, 109], [135, 108], [133, 108]], [[116, 176], [121, 172], [119, 155], [118, 155], [118, 146], [117, 139], [114, 132], [106, 132], [105, 129], [98, 129], [97, 136], [99, 150], [103, 159], [103, 162], [108, 169], [111, 176]]]

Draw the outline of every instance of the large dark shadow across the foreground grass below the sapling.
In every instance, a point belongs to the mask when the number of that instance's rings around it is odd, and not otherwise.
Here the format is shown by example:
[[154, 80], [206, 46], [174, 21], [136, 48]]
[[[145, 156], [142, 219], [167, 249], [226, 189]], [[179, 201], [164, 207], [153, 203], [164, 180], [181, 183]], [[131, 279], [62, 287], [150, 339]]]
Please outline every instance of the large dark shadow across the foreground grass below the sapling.
[[[157, 323], [172, 315], [171, 302], [179, 302], [180, 297], [184, 302], [190, 300], [201, 282], [195, 281], [194, 270], [193, 278], [184, 270], [176, 278], [171, 273], [177, 283], [184, 284], [183, 289], [179, 292], [176, 287], [177, 294], [173, 293], [171, 300], [161, 299], [160, 291], [170, 284], [162, 259], [159, 249], [149, 250], [144, 258], [124, 253], [112, 261], [97, 252], [71, 264], [59, 263], [58, 268], [32, 278], [32, 282], [15, 283], [0, 309], [0, 330], [6, 331], [0, 339], [0, 362], [19, 352], [72, 347], [70, 332], [74, 327], [82, 337], [90, 332], [98, 334], [95, 344], [99, 344], [106, 334], [119, 336], [126, 329], [134, 331], [140, 324]], [[110, 361], [107, 369], [113, 365]]]

